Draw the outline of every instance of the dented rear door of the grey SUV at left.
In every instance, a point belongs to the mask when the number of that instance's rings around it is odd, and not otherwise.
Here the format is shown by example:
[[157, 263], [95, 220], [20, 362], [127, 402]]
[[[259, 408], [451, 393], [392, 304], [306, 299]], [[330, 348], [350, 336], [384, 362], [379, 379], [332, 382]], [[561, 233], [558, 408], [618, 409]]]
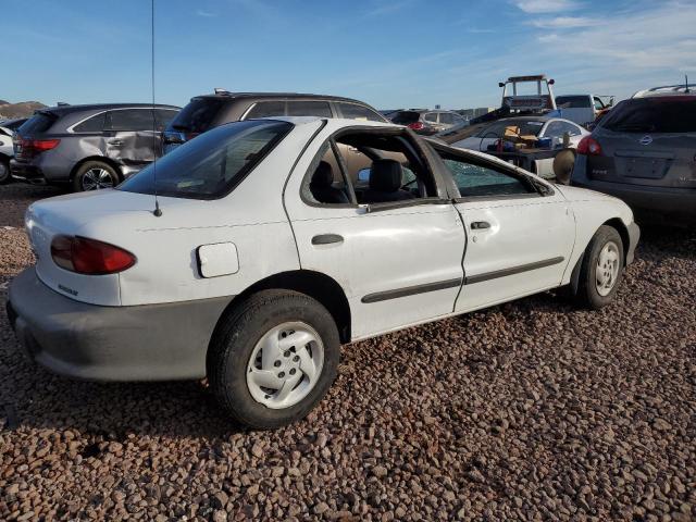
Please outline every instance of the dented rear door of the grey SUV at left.
[[161, 144], [161, 135], [154, 128], [151, 108], [107, 111], [107, 157], [134, 170], [154, 161], [156, 151]]

